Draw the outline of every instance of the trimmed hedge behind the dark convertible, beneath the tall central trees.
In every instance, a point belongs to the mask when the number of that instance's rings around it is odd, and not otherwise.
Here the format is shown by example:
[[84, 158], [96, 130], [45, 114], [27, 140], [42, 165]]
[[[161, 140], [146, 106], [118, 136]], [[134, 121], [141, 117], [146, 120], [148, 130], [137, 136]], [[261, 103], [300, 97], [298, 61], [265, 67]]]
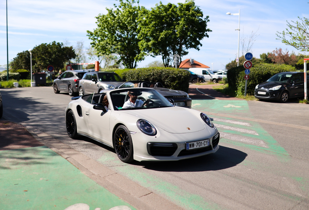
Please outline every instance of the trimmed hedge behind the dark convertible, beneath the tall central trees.
[[160, 82], [165, 88], [189, 91], [190, 73], [187, 70], [150, 67], [122, 71], [121, 76], [126, 81]]

